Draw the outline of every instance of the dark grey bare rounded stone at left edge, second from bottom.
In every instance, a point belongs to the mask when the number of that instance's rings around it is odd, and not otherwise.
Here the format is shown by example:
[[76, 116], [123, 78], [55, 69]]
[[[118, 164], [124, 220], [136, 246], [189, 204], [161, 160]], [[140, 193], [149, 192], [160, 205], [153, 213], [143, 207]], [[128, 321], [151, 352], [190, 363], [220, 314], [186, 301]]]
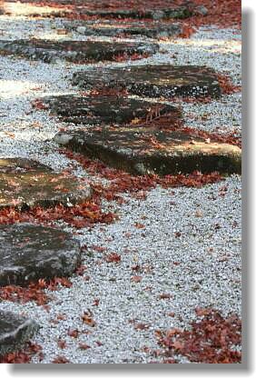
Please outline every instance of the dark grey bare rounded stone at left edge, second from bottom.
[[69, 276], [80, 264], [72, 234], [35, 224], [0, 225], [0, 285]]

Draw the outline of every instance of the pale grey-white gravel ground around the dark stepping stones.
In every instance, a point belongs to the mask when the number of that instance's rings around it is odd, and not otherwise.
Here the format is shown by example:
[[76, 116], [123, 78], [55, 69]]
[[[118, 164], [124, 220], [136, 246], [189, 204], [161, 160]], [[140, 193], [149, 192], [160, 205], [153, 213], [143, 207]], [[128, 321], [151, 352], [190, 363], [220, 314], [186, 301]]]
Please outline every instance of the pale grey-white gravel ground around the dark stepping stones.
[[[67, 35], [56, 34], [63, 25], [60, 19], [0, 16], [2, 39], [64, 39]], [[85, 39], [75, 34], [73, 38]], [[228, 73], [234, 84], [241, 84], [238, 31], [203, 27], [191, 39], [162, 42], [161, 51], [128, 64], [200, 62]], [[31, 100], [73, 93], [72, 74], [88, 65], [49, 65], [6, 56], [0, 56], [0, 65], [0, 157], [33, 158], [56, 171], [71, 165], [75, 174], [87, 175], [51, 142], [63, 124], [47, 112], [32, 110]], [[241, 94], [226, 95], [210, 104], [182, 104], [182, 108], [188, 125], [241, 133]], [[76, 235], [88, 247], [83, 256], [88, 281], [84, 276], [72, 277], [71, 288], [54, 292], [49, 312], [34, 303], [1, 303], [1, 308], [26, 313], [41, 324], [34, 342], [42, 345], [44, 360], [34, 357], [34, 363], [50, 363], [58, 355], [71, 363], [149, 363], [155, 358], [145, 353], [144, 347], [157, 348], [154, 331], [189, 326], [197, 306], [212, 306], [225, 316], [241, 316], [241, 177], [233, 175], [201, 189], [156, 187], [145, 201], [129, 195], [124, 198], [122, 205], [104, 204], [119, 215], [117, 222], [79, 230]], [[137, 228], [136, 223], [144, 228]], [[106, 250], [96, 252], [95, 245]], [[120, 263], [105, 262], [104, 254], [112, 252], [121, 255]], [[139, 272], [132, 269], [136, 264], [141, 267]], [[142, 280], [134, 283], [133, 275]], [[162, 293], [171, 297], [160, 299]], [[95, 299], [98, 305], [94, 305]], [[82, 322], [88, 309], [93, 312], [94, 327]], [[59, 314], [65, 319], [56, 322]], [[147, 324], [146, 329], [135, 330], [136, 323]], [[77, 339], [67, 334], [69, 329], [80, 332]], [[63, 350], [58, 339], [66, 342]], [[91, 348], [81, 350], [79, 343]], [[179, 363], [189, 361], [181, 356]]]

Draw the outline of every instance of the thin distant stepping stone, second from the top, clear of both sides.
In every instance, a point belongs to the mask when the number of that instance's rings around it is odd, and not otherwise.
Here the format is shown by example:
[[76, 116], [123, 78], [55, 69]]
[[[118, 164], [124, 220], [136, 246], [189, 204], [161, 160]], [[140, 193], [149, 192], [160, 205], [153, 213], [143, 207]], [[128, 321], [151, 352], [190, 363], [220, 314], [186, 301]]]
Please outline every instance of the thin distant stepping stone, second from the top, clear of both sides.
[[149, 38], [162, 38], [182, 34], [182, 25], [162, 22], [87, 21], [79, 25], [68, 25], [67, 28], [73, 29], [81, 35], [100, 36], [143, 35]]

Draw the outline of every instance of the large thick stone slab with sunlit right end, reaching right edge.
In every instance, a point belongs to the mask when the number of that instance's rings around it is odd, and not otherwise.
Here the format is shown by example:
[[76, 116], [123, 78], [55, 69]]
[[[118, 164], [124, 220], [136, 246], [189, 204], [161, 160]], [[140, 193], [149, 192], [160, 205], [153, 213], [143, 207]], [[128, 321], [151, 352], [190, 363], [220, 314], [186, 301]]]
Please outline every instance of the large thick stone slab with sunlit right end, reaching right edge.
[[151, 126], [61, 132], [54, 140], [132, 174], [241, 173], [241, 149]]

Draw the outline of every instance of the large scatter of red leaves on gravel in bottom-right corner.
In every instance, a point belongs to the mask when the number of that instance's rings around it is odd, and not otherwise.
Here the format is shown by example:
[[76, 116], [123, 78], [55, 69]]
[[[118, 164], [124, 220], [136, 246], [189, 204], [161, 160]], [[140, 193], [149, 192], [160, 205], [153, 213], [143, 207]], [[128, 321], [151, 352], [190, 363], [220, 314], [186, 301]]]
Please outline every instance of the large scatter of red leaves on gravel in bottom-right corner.
[[241, 345], [241, 320], [236, 315], [225, 319], [212, 309], [197, 309], [196, 313], [199, 319], [191, 323], [190, 331], [156, 332], [164, 348], [163, 363], [177, 363], [177, 354], [192, 363], [241, 363], [241, 353], [235, 348]]

